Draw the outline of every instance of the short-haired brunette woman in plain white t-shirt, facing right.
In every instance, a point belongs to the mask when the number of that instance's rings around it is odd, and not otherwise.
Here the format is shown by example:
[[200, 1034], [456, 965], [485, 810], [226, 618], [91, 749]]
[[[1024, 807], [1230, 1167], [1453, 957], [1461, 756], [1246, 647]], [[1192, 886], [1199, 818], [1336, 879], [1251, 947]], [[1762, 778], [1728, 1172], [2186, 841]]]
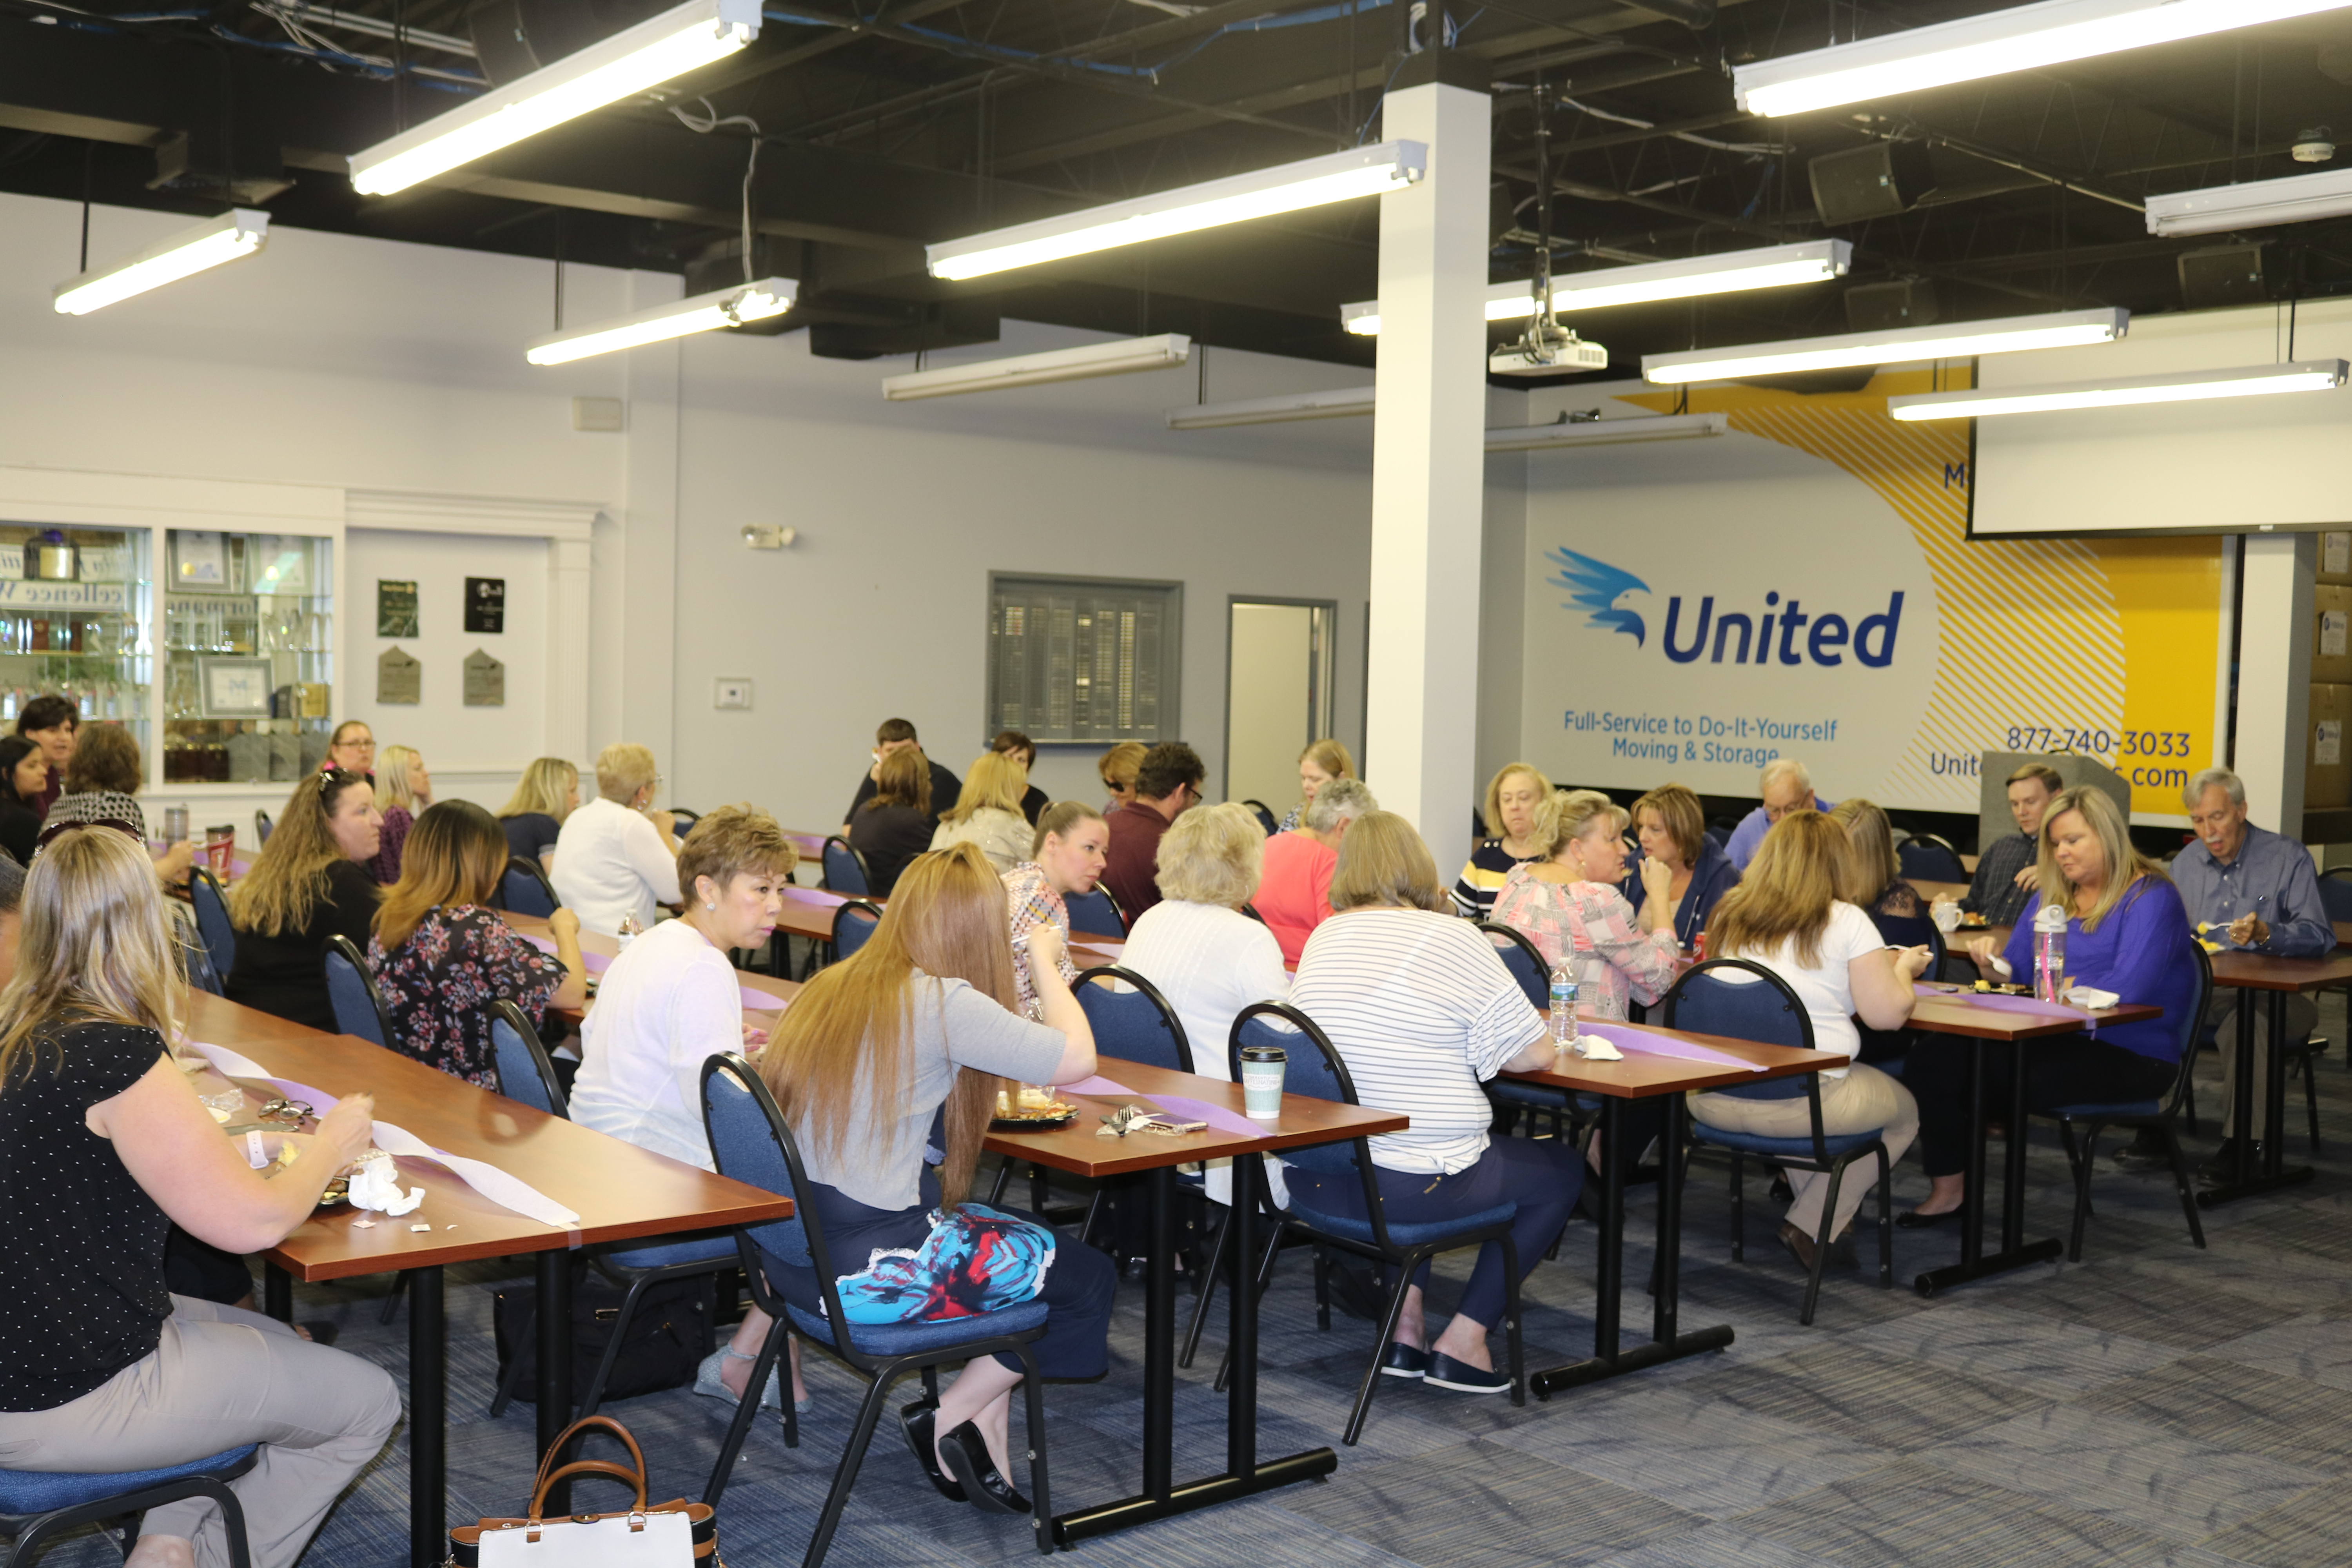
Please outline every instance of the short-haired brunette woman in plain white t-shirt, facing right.
[[[743, 1023], [743, 990], [727, 954], [767, 945], [797, 863], [776, 818], [755, 806], [720, 806], [694, 823], [677, 849], [677, 879], [689, 893], [684, 914], [621, 950], [581, 1025], [574, 1121], [715, 1168], [703, 1133], [703, 1060], [760, 1044], [760, 1032]], [[764, 1338], [767, 1316], [750, 1312], [734, 1345], [703, 1363], [696, 1392], [741, 1399]], [[793, 1399], [809, 1399], [797, 1349]], [[762, 1403], [776, 1401], [769, 1380]]]

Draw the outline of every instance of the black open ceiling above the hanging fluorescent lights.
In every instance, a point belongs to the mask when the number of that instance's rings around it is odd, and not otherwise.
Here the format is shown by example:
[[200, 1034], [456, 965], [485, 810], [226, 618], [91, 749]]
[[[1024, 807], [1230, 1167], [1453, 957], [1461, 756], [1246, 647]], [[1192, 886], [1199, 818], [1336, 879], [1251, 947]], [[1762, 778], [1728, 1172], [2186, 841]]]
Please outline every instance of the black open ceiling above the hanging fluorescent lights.
[[[1536, 89], [1550, 106], [1562, 270], [1837, 235], [1849, 284], [1571, 320], [1611, 374], [1642, 353], [1844, 331], [1846, 287], [1926, 280], [1945, 320], [2077, 306], [2183, 308], [2183, 252], [2147, 193], [2305, 172], [2338, 127], [2352, 158], [2352, 9], [1792, 120], [1731, 106], [1729, 66], [2009, 5], [1994, 0], [1451, 0], [1456, 49], [1496, 82], [1494, 277], [1536, 228]], [[863, 7], [863, 14], [851, 7]], [[541, 59], [661, 0], [0, 0], [0, 188], [207, 214], [240, 195], [278, 223], [687, 273], [741, 275], [748, 125], [699, 134], [670, 106], [757, 122], [762, 270], [795, 275], [818, 353], [985, 341], [997, 315], [1188, 331], [1232, 348], [1371, 362], [1338, 329], [1369, 299], [1376, 209], [1315, 214], [934, 282], [922, 242], [1352, 146], [1378, 134], [1399, 5], [1357, 0], [809, 0], [755, 45], [390, 197], [343, 158], [440, 113], [513, 49]], [[1679, 16], [1679, 21], [1677, 21]], [[1710, 19], [1712, 16], [1712, 19]], [[146, 19], [146, 21], [141, 21]], [[1705, 19], [1705, 21], [1703, 21]], [[1691, 26], [1703, 21], [1703, 26]], [[390, 38], [400, 24], [407, 42]], [[1825, 226], [1809, 165], [1907, 146], [1917, 200]], [[2270, 228], [2258, 296], [2352, 287], [2352, 221]], [[103, 256], [101, 256], [103, 261]], [[59, 256], [59, 277], [73, 256]], [[2244, 268], [2237, 287], [2249, 287]], [[2206, 296], [2199, 296], [2206, 299]]]

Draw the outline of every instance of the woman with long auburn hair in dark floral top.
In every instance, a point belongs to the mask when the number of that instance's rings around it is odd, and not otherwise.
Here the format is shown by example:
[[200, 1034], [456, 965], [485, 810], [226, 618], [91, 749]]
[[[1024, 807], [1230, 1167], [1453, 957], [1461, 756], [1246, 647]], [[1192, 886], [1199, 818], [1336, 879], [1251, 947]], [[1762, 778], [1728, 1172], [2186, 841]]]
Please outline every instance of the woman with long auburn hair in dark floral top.
[[[390, 748], [400, 750], [400, 748]], [[588, 1006], [581, 917], [555, 910], [555, 957], [522, 940], [489, 907], [506, 875], [506, 832], [470, 799], [426, 806], [409, 835], [400, 882], [383, 889], [367, 966], [393, 1016], [393, 1048], [499, 1091], [489, 1006], [513, 1001], [539, 1023], [550, 1006]]]

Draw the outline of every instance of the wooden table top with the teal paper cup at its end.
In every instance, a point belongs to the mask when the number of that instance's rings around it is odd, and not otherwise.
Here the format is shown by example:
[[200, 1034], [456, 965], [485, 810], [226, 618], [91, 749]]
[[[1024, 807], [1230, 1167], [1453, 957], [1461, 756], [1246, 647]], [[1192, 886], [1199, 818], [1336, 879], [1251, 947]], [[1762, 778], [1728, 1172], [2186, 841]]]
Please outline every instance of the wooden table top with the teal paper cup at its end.
[[1338, 1143], [1341, 1138], [1402, 1133], [1411, 1126], [1411, 1119], [1402, 1112], [1341, 1105], [1338, 1100], [1315, 1100], [1310, 1095], [1287, 1093], [1282, 1095], [1282, 1117], [1277, 1121], [1263, 1121], [1261, 1126], [1265, 1131], [1258, 1138], [1247, 1138], [1214, 1124], [1200, 1133], [1185, 1133], [1183, 1138], [1167, 1138], [1162, 1133], [1103, 1138], [1096, 1133], [1103, 1117], [1129, 1103], [1157, 1110], [1152, 1103], [1155, 1093], [1183, 1095], [1188, 1100], [1202, 1100], [1240, 1114], [1242, 1086], [1228, 1084], [1225, 1079], [1204, 1079], [1192, 1072], [1174, 1072], [1171, 1067], [1122, 1063], [1110, 1056], [1101, 1058], [1094, 1072], [1096, 1077], [1122, 1084], [1134, 1093], [1098, 1098], [1075, 1095], [1063, 1088], [1058, 1091], [1061, 1098], [1080, 1107], [1075, 1121], [1042, 1133], [990, 1133], [988, 1150], [1011, 1159], [1054, 1166], [1056, 1171], [1070, 1171], [1075, 1175], [1120, 1175], [1122, 1171], [1152, 1171], [1157, 1166], [1178, 1166], [1195, 1159], [1279, 1154], [1282, 1150]]

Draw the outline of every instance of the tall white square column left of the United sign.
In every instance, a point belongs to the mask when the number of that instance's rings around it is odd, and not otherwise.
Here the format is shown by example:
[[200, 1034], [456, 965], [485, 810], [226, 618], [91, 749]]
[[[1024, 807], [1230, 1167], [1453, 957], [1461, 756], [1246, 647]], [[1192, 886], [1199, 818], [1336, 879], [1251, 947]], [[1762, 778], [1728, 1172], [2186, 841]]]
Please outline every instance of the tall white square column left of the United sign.
[[1430, 160], [1381, 197], [1364, 715], [1381, 804], [1421, 827], [1446, 879], [1468, 858], [1477, 797], [1489, 214], [1489, 103], [1432, 80], [1454, 66], [1435, 49], [1409, 59], [1381, 110], [1381, 139], [1428, 143]]

